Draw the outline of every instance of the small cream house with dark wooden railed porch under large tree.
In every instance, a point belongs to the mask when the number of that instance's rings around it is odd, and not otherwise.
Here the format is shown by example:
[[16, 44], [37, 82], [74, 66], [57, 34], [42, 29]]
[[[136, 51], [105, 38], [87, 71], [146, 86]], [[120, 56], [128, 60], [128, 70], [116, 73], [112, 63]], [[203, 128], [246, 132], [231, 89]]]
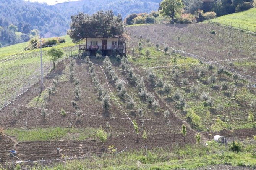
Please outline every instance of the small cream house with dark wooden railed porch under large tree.
[[126, 53], [125, 37], [85, 37], [85, 44], [79, 45], [79, 52], [87, 55], [95, 55], [97, 50], [102, 52], [102, 55], [111, 55], [112, 51], [123, 55]]

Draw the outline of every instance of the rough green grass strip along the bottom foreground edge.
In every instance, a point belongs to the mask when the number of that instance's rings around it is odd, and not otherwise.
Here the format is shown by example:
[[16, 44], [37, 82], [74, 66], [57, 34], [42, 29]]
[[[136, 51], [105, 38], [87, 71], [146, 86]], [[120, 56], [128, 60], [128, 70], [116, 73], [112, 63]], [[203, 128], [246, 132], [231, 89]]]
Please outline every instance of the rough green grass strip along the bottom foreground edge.
[[[44, 167], [35, 165], [34, 170], [73, 170], [73, 169], [102, 169], [102, 170], [170, 170], [170, 169], [194, 169], [207, 165], [233, 165], [243, 167], [256, 167], [253, 149], [249, 145], [241, 153], [228, 151], [228, 147], [215, 142], [208, 142], [209, 146], [201, 144], [197, 146], [187, 145], [184, 148], [175, 149], [153, 149], [140, 151], [127, 151], [118, 155], [105, 157], [90, 157], [83, 160], [70, 160], [55, 167]], [[248, 168], [248, 169], [250, 169]], [[244, 168], [243, 168], [244, 169]]]

